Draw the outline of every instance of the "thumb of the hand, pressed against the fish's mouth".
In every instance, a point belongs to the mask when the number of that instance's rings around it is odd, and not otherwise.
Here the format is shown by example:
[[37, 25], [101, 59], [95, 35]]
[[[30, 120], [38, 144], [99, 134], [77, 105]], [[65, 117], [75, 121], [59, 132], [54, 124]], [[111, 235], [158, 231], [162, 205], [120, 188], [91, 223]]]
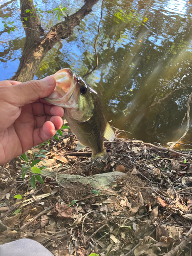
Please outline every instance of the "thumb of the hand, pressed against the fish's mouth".
[[41, 80], [32, 80], [16, 84], [9, 88], [9, 102], [15, 106], [23, 106], [37, 99], [49, 96], [56, 85], [55, 78], [48, 76]]

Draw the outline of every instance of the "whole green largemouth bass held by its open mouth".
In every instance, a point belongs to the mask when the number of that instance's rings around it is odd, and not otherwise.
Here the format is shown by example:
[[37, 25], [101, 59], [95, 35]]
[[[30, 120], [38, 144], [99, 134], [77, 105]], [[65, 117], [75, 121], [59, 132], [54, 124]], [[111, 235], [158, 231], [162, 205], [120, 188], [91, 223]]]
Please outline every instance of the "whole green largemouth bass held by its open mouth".
[[61, 69], [52, 76], [56, 87], [44, 99], [65, 109], [64, 117], [79, 141], [76, 150], [90, 147], [92, 160], [106, 159], [104, 138], [114, 141], [115, 134], [106, 120], [98, 93], [69, 68]]

